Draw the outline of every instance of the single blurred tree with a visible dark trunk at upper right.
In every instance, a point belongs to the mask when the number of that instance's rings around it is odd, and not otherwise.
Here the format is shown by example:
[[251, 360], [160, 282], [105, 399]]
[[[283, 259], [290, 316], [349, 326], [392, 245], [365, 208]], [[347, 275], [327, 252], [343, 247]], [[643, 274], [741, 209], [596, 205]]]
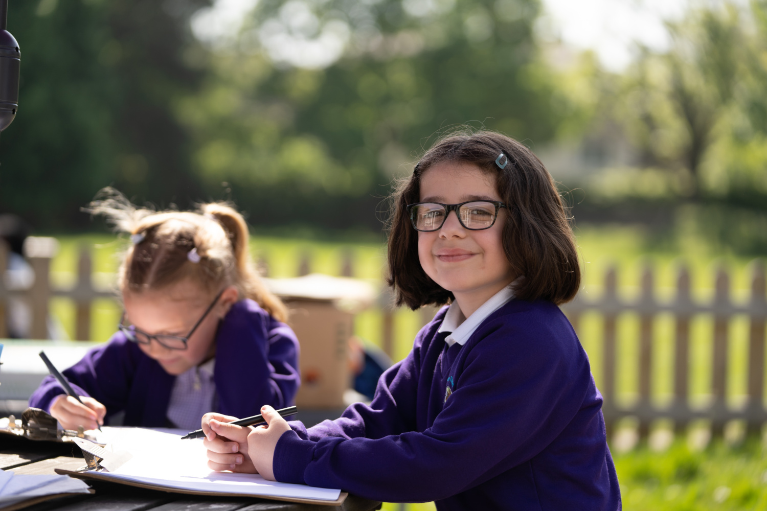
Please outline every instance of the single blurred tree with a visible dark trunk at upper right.
[[630, 70], [622, 114], [640, 162], [677, 172], [683, 195], [700, 198], [706, 152], [729, 123], [743, 72], [742, 16], [725, 5], [693, 11], [668, 28], [670, 50], [644, 48]]

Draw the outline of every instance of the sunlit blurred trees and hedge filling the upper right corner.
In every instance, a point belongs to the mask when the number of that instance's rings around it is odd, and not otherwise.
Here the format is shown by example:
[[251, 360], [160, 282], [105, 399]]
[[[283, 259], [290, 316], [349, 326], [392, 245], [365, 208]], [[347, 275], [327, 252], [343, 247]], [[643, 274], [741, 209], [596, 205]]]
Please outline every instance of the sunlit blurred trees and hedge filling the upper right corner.
[[623, 74], [587, 54], [560, 75], [571, 114], [559, 133], [582, 146], [622, 137], [632, 153], [578, 183], [588, 193], [575, 216], [764, 254], [767, 2], [699, 5], [668, 29], [669, 49], [640, 48]]

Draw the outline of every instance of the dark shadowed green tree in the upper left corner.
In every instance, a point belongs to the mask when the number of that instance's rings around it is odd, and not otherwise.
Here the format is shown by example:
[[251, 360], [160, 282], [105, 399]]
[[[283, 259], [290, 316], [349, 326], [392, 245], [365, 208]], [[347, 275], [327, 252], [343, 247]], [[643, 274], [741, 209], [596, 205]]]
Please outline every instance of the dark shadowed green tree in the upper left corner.
[[61, 229], [87, 225], [80, 208], [104, 185], [160, 203], [199, 196], [172, 104], [202, 77], [188, 20], [209, 2], [9, 4], [22, 64], [18, 118], [0, 141], [0, 208]]

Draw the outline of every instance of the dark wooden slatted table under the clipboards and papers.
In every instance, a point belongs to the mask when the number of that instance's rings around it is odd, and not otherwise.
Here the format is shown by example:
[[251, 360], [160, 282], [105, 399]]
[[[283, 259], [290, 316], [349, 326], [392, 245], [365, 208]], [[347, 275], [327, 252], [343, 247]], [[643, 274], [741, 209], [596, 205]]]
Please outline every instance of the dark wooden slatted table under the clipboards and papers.
[[[54, 468], [83, 467], [75, 444], [0, 438], [0, 468], [15, 473], [53, 474]], [[88, 481], [94, 495], [67, 496], [26, 507], [28, 511], [372, 511], [381, 503], [350, 495], [341, 506], [316, 506], [278, 500], [193, 496]]]

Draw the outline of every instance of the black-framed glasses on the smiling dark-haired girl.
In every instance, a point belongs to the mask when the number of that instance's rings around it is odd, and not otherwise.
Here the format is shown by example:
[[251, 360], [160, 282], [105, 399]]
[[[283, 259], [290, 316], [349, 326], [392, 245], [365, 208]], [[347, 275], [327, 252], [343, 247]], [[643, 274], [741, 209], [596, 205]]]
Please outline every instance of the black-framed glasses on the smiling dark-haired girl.
[[442, 204], [441, 202], [416, 202], [407, 205], [410, 221], [416, 231], [439, 231], [450, 211], [456, 211], [458, 221], [469, 231], [482, 231], [495, 224], [500, 208], [506, 205], [499, 201], [466, 201], [459, 204]]

